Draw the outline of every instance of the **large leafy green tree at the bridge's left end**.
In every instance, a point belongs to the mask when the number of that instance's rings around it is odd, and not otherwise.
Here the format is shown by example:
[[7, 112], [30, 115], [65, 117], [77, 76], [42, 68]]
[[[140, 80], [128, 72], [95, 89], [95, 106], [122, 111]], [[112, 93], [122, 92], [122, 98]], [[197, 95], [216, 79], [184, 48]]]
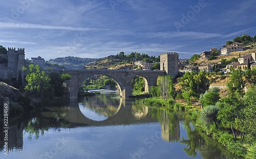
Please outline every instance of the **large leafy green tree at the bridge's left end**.
[[[26, 68], [24, 68], [26, 70]], [[46, 75], [45, 71], [40, 71], [39, 65], [29, 65], [28, 74], [26, 75], [27, 85], [25, 90], [29, 94], [39, 95], [40, 100], [44, 94], [50, 90], [51, 78]]]

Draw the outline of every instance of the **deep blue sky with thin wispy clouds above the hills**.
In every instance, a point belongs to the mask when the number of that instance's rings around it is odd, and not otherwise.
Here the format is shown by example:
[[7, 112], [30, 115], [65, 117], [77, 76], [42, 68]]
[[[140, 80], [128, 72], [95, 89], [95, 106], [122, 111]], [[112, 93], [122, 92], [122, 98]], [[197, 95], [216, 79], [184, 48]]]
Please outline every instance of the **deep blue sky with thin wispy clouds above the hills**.
[[9, 0], [0, 9], [0, 45], [26, 58], [101, 58], [176, 51], [190, 58], [237, 36], [256, 34], [256, 1]]

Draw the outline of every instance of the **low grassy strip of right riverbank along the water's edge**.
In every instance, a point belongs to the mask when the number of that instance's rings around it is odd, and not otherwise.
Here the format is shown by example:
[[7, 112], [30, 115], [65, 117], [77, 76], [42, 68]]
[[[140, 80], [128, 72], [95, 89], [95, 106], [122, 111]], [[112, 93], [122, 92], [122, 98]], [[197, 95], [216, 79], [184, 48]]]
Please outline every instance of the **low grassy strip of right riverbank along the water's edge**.
[[[146, 98], [141, 99], [140, 102], [148, 105], [149, 107], [157, 108], [170, 108], [174, 110], [183, 110], [186, 112], [188, 118], [193, 121], [194, 125], [208, 138], [214, 139], [222, 146], [224, 146], [229, 152], [242, 158], [254, 158], [256, 157], [256, 148], [253, 145], [242, 144], [239, 139], [234, 140], [232, 130], [227, 127], [215, 127], [209, 128], [210, 131], [206, 131], [203, 126], [202, 111], [199, 101], [194, 100], [193, 105], [187, 105], [185, 101], [179, 99], [174, 103], [172, 99], [160, 99], [160, 98]], [[238, 134], [239, 135], [239, 134]]]

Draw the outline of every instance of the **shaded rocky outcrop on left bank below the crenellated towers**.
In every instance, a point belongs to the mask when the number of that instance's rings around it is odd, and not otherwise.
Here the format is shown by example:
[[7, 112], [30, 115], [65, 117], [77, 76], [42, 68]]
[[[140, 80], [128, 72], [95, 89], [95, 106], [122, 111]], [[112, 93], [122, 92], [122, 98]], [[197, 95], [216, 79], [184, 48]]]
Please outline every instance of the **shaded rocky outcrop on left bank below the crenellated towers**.
[[0, 97], [8, 97], [10, 101], [17, 101], [18, 97], [22, 95], [18, 89], [4, 82], [0, 82]]

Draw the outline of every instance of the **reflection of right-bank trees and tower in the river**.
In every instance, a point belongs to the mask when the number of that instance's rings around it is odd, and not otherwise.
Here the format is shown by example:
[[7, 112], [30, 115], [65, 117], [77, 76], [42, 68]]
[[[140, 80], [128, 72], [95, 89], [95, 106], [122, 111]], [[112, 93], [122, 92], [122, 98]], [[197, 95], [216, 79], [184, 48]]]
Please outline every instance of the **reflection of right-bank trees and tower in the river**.
[[[162, 139], [168, 142], [180, 142], [186, 145], [183, 151], [192, 157], [201, 153], [202, 158], [234, 158], [225, 148], [206, 134], [194, 128], [185, 112], [178, 112], [168, 108], [148, 109], [148, 114], [161, 124]], [[180, 121], [186, 130], [187, 138], [180, 137]]]

